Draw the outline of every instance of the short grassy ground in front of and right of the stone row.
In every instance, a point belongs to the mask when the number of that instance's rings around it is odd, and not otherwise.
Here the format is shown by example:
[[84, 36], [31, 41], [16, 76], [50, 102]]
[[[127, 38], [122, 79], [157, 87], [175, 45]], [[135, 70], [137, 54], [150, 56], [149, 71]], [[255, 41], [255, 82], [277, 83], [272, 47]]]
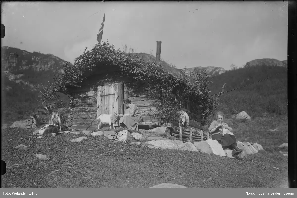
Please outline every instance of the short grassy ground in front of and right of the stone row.
[[[28, 139], [25, 135], [33, 137], [32, 130], [7, 128], [2, 130], [2, 160], [8, 166], [2, 188], [148, 188], [159, 183], [187, 188], [288, 187], [288, 158], [279, 153], [286, 149], [278, 148], [287, 142], [287, 117], [225, 121], [238, 141], [257, 142], [264, 151], [230, 159], [113, 143], [104, 136], [86, 135], [89, 139], [80, 143], [69, 140], [83, 135]], [[268, 132], [275, 128], [279, 130]], [[19, 144], [28, 149], [13, 148]], [[37, 160], [36, 154], [47, 155], [49, 160]]]

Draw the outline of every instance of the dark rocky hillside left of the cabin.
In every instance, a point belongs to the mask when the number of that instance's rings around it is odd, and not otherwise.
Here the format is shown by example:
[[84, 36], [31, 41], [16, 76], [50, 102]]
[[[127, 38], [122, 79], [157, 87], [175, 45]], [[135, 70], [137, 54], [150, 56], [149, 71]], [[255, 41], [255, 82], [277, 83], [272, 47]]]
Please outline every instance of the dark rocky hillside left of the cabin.
[[[1, 48], [4, 123], [29, 119], [36, 108], [43, 108], [38, 106], [38, 92], [34, 86], [53, 82], [54, 73], [63, 73], [64, 62], [52, 54], [27, 52], [12, 47]], [[61, 94], [61, 98], [66, 99], [67, 96]]]

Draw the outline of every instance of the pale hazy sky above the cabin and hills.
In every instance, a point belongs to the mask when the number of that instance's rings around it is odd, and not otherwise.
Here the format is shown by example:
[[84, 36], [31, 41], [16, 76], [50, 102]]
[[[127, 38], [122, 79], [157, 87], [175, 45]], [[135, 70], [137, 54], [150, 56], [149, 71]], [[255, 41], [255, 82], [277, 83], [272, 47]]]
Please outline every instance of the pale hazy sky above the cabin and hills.
[[[287, 60], [287, 1], [1, 1], [1, 46], [74, 63], [102, 41], [156, 56], [176, 68], [230, 69], [259, 58]], [[129, 50], [128, 50], [129, 51]]]

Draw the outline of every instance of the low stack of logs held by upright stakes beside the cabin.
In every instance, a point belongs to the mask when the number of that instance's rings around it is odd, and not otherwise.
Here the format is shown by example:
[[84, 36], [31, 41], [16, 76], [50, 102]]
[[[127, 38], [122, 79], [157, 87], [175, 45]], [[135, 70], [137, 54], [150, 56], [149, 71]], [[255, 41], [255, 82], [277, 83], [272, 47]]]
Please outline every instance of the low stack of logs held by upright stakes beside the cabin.
[[184, 127], [173, 127], [171, 136], [174, 137], [174, 140], [180, 141], [206, 141], [209, 138], [208, 133], [202, 132], [202, 130], [186, 129]]

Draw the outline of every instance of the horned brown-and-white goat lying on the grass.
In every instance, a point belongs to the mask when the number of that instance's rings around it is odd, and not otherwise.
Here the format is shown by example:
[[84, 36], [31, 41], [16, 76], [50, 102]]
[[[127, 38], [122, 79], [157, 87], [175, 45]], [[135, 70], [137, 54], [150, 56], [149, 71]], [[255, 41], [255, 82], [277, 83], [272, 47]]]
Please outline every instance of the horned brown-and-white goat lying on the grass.
[[30, 116], [32, 118], [33, 123], [36, 125], [37, 129], [33, 132], [34, 135], [39, 134], [43, 137], [47, 136], [56, 136], [59, 134], [59, 129], [55, 127], [52, 124], [42, 123], [37, 118], [37, 113], [39, 111], [35, 112], [33, 111], [33, 116]]

